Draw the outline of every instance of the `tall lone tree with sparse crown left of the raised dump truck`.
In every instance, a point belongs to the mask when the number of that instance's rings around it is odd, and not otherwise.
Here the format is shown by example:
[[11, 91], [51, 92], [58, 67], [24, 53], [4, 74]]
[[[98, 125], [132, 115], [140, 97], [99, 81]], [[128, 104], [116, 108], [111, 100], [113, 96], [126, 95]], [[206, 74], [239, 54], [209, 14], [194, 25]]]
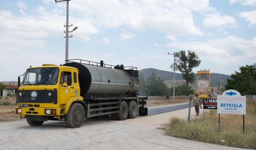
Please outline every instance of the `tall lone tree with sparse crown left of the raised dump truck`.
[[[194, 83], [195, 77], [192, 69], [199, 66], [201, 60], [195, 54], [188, 50], [188, 55], [186, 55], [186, 51], [181, 50], [180, 52], [175, 53], [175, 68], [177, 68], [182, 77], [186, 80], [186, 94], [188, 94], [188, 83]], [[171, 65], [171, 68], [174, 67], [174, 64]]]

